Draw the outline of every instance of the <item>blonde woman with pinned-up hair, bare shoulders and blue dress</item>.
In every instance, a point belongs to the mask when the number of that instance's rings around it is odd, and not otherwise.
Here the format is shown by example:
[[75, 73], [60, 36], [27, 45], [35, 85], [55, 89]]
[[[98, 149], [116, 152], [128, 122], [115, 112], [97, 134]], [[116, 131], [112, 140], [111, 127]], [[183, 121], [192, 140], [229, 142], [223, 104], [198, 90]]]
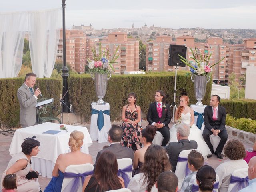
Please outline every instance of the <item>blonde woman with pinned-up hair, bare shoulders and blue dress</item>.
[[71, 152], [60, 154], [52, 171], [52, 180], [44, 189], [44, 192], [60, 192], [64, 178], [64, 172], [69, 165], [92, 164], [92, 156], [81, 152], [84, 144], [84, 134], [81, 131], [72, 131], [68, 145]]

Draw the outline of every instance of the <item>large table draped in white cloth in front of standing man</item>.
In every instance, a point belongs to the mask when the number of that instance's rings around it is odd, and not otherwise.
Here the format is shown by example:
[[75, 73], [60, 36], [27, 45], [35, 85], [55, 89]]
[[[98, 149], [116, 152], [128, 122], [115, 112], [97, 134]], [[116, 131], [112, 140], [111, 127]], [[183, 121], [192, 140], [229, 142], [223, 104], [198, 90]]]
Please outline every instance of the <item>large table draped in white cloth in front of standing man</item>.
[[[77, 130], [84, 133], [84, 144], [81, 147], [82, 152], [88, 154], [88, 147], [92, 144], [92, 140], [86, 127], [64, 125], [67, 128], [66, 131], [60, 130], [60, 125], [61, 124], [46, 122], [16, 130], [9, 148], [10, 155], [14, 156], [22, 150], [21, 144], [25, 138], [36, 136], [35, 139], [40, 142], [40, 151], [37, 156], [31, 158], [32, 168], [41, 172], [43, 177], [47, 176], [48, 178], [51, 178], [52, 170], [58, 156], [62, 153], [70, 152], [68, 141], [72, 131]], [[43, 132], [48, 130], [60, 130], [60, 132], [54, 135], [43, 134]]]

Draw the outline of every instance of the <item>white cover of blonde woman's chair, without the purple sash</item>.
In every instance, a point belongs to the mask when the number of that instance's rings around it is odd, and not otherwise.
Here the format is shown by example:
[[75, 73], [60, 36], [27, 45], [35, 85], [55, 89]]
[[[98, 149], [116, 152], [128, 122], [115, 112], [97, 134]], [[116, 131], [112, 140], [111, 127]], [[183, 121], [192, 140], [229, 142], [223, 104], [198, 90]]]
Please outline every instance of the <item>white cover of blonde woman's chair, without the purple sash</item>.
[[[85, 173], [85, 172], [88, 172], [88, 171], [92, 171], [93, 170], [93, 165], [90, 164], [90, 163], [86, 163], [86, 164], [82, 164], [82, 165], [69, 165], [66, 167], [66, 170], [65, 172], [67, 173]], [[61, 191], [63, 192], [65, 187], [73, 180], [74, 178], [65, 178], [63, 179], [63, 182], [62, 182], [62, 188], [61, 188]], [[81, 179], [80, 179], [81, 181]], [[78, 187], [78, 191], [82, 191], [83, 189], [83, 183], [82, 181], [79, 182], [80, 185]]]

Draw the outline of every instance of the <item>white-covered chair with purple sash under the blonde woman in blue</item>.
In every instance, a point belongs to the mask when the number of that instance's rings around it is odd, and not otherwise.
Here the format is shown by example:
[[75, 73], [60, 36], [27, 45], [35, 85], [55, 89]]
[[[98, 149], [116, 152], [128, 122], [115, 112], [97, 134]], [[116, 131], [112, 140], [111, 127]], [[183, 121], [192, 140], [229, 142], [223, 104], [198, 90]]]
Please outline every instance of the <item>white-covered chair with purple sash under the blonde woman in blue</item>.
[[92, 174], [93, 165], [90, 163], [67, 166], [61, 192], [82, 191], [85, 177]]

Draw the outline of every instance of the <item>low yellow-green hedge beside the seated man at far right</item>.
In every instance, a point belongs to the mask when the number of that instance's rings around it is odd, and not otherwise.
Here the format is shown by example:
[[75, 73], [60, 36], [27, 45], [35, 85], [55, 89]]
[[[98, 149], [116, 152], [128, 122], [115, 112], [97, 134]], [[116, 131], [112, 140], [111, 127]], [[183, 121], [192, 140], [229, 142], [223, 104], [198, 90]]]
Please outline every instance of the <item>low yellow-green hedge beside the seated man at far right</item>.
[[246, 118], [235, 119], [232, 116], [227, 115], [226, 125], [256, 134], [256, 120]]

